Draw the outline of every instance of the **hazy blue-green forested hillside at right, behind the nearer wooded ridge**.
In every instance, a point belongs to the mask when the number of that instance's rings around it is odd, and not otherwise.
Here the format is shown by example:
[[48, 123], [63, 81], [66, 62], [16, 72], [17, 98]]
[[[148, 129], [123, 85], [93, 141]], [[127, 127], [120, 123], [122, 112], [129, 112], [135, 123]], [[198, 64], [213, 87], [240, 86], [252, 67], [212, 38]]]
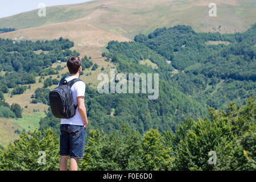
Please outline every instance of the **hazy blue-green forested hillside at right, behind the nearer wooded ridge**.
[[256, 24], [236, 34], [197, 33], [189, 26], [158, 28], [134, 40], [170, 60], [179, 73], [168, 76], [168, 82], [203, 105], [224, 108], [255, 96]]

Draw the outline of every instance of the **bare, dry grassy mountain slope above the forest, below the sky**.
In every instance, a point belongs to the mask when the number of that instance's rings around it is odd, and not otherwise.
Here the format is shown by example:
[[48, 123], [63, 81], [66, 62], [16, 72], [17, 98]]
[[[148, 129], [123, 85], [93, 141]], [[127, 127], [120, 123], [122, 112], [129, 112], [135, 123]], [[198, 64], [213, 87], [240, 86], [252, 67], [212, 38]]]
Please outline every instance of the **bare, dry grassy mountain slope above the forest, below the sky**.
[[[210, 0], [108, 0], [76, 5], [47, 7], [46, 17], [38, 10], [0, 19], [1, 27], [19, 30], [1, 34], [3, 38], [54, 39], [63, 36], [75, 42], [82, 55], [101, 52], [109, 40], [132, 40], [139, 32], [188, 24], [196, 31], [245, 31], [256, 19], [254, 0], [214, 1], [217, 17], [209, 17]], [[33, 27], [33, 28], [31, 28]]]

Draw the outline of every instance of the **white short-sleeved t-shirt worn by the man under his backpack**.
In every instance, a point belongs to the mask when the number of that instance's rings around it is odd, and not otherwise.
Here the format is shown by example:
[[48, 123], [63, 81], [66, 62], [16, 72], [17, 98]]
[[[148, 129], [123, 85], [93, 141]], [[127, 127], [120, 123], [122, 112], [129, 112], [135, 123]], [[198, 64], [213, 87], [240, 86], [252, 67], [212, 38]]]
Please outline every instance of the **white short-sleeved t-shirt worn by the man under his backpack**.
[[[76, 77], [68, 76], [68, 77], [65, 77], [65, 80], [71, 81], [75, 78]], [[59, 86], [59, 84], [58, 84], [58, 86]], [[72, 91], [73, 101], [76, 106], [77, 105], [76, 97], [84, 96], [84, 94], [85, 94], [85, 83], [83, 81], [75, 82], [75, 84], [73, 84], [71, 86], [71, 91]], [[72, 118], [68, 118], [68, 119], [61, 118], [60, 125], [62, 125], [62, 124], [84, 126], [84, 121], [82, 121], [78, 107], [76, 107], [76, 114]]]

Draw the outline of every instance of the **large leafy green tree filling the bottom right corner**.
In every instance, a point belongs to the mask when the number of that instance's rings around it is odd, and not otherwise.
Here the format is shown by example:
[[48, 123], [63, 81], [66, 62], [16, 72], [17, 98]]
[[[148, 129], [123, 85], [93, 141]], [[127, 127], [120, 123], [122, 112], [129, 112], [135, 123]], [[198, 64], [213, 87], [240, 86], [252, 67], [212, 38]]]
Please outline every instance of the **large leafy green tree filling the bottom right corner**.
[[[242, 107], [231, 103], [227, 111], [210, 108], [210, 118], [193, 122], [176, 144], [175, 168], [255, 170], [255, 106], [255, 98], [251, 97]], [[208, 162], [210, 151], [216, 152], [216, 165]]]

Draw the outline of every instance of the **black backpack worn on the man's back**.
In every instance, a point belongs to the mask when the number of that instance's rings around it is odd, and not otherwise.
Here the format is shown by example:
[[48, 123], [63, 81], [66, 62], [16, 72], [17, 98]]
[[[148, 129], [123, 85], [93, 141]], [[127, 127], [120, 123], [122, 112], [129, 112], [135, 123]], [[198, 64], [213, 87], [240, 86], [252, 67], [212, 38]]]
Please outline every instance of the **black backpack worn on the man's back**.
[[56, 118], [72, 118], [76, 114], [76, 107], [73, 102], [71, 86], [75, 82], [81, 81], [75, 78], [71, 81], [60, 80], [59, 86], [49, 92], [49, 104], [51, 106], [52, 114]]

